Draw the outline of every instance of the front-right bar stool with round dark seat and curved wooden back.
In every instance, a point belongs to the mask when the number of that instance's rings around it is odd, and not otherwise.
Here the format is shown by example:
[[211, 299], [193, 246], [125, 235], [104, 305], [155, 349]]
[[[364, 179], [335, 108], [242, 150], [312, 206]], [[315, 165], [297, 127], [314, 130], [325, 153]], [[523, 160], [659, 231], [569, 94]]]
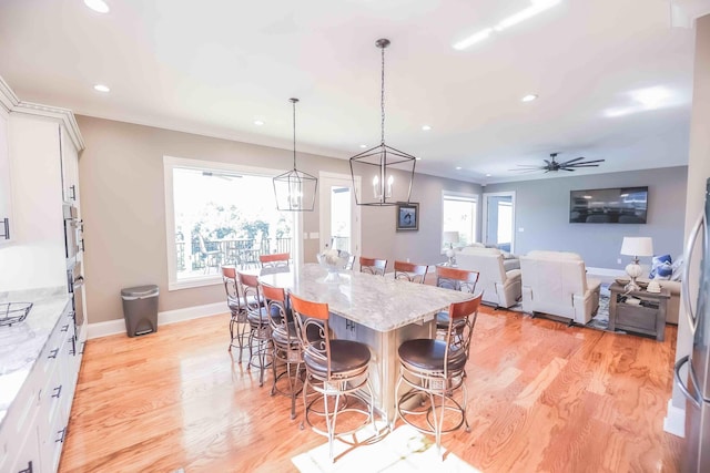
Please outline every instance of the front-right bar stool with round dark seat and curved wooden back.
[[[478, 317], [483, 292], [477, 297], [449, 306], [449, 327], [445, 340], [407, 340], [397, 350], [399, 358], [399, 380], [395, 387], [395, 420], [397, 417], [423, 433], [433, 434], [442, 455], [442, 434], [450, 433], [466, 425], [466, 362], [470, 339]], [[399, 389], [409, 388], [399, 397]], [[454, 397], [463, 392], [460, 400]], [[423, 398], [423, 399], [422, 399]], [[454, 419], [447, 419], [450, 412]]]

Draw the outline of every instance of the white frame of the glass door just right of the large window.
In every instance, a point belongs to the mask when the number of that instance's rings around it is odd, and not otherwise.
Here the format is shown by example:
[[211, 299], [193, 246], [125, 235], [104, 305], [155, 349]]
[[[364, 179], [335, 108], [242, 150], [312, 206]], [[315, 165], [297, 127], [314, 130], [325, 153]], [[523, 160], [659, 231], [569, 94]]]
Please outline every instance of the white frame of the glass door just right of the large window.
[[[353, 188], [353, 177], [349, 174], [339, 174], [339, 173], [329, 173], [326, 171], [321, 171], [318, 173], [318, 186], [321, 187], [321, 192], [318, 193], [318, 209], [320, 209], [320, 216], [318, 216], [318, 253], [321, 253], [323, 250], [323, 248], [325, 248], [326, 244], [331, 243], [331, 238], [326, 237], [326, 235], [331, 234], [331, 228], [329, 225], [327, 225], [329, 223], [329, 210], [331, 210], [331, 203], [329, 199], [331, 198], [331, 189], [329, 189], [329, 185], [331, 183], [337, 183], [337, 185], [347, 185], [347, 187]], [[359, 176], [355, 176], [355, 188], [353, 189], [354, 192], [358, 192], [361, 191], [361, 177]], [[355, 194], [352, 195], [352, 216], [353, 216], [353, 222], [351, 223], [351, 228], [352, 228], [352, 233], [353, 235], [351, 235], [352, 238], [352, 245], [351, 248], [353, 248], [353, 255], [358, 255], [362, 248], [362, 230], [361, 230], [361, 225], [362, 225], [362, 219], [361, 219], [361, 208], [359, 205], [357, 205], [355, 203]], [[326, 212], [327, 209], [327, 212]]]

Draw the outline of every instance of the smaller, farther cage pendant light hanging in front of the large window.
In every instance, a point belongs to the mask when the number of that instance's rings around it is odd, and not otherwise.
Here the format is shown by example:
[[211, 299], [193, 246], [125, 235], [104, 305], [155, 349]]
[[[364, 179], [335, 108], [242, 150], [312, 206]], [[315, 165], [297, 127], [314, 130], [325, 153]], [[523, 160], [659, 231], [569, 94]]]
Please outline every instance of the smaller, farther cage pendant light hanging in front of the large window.
[[315, 205], [315, 193], [318, 179], [296, 168], [296, 103], [298, 99], [290, 99], [293, 104], [293, 169], [274, 177], [276, 208], [287, 212], [312, 212]]

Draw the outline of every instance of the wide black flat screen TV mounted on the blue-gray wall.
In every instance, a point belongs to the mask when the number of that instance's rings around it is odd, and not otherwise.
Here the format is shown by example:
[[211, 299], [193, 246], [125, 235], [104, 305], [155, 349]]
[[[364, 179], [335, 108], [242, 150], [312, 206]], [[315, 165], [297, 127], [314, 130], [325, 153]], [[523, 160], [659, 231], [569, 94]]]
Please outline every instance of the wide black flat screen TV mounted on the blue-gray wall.
[[570, 224], [645, 224], [648, 187], [570, 191]]

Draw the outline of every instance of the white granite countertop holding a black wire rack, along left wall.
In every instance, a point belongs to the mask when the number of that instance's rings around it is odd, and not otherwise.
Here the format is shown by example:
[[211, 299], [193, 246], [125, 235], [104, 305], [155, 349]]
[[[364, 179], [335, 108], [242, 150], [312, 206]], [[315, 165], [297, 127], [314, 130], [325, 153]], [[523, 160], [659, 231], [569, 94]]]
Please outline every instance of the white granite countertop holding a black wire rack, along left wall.
[[0, 302], [33, 302], [27, 318], [0, 326], [0, 426], [34, 367], [57, 321], [70, 302], [67, 289], [0, 292]]

